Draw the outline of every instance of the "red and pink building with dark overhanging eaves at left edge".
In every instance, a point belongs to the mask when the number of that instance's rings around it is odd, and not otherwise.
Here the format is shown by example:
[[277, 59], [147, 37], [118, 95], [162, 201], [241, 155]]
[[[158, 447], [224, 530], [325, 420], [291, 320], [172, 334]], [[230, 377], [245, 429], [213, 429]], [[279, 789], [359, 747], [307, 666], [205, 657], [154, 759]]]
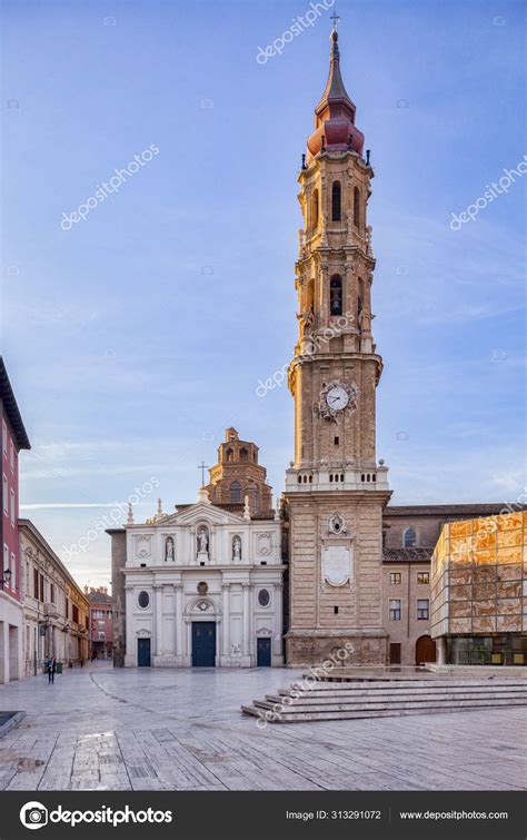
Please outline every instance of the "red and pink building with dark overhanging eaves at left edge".
[[0, 357], [0, 415], [2, 425], [2, 506], [0, 544], [0, 683], [23, 676], [22, 570], [20, 563], [19, 453], [30, 443]]

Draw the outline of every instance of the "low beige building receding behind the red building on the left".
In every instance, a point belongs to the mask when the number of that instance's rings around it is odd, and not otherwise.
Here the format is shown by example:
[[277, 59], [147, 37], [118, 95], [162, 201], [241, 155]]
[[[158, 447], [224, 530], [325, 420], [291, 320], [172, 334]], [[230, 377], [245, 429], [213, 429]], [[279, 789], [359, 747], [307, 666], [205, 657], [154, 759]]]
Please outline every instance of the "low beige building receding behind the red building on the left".
[[63, 668], [89, 655], [90, 604], [62, 561], [29, 520], [19, 520], [22, 553], [24, 676], [43, 673], [54, 656]]

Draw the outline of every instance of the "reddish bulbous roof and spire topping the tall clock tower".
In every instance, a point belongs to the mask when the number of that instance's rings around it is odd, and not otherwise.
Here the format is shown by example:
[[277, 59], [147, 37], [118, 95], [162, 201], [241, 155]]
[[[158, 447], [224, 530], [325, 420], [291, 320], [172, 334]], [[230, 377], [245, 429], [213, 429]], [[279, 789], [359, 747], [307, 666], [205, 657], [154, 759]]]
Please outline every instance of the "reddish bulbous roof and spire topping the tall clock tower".
[[307, 141], [308, 162], [321, 151], [322, 146], [328, 151], [354, 149], [362, 154], [365, 137], [355, 125], [355, 111], [340, 75], [338, 32], [332, 31], [328, 81], [315, 108], [315, 131]]

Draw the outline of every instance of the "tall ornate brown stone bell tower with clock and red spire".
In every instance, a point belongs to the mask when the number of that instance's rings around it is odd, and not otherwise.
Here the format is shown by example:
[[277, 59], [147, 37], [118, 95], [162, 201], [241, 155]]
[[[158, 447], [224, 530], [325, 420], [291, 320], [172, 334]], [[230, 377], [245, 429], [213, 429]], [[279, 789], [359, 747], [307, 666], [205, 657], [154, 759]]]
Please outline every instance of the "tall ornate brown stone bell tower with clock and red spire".
[[347, 663], [387, 661], [381, 517], [390, 491], [375, 452], [382, 360], [371, 335], [375, 259], [367, 224], [374, 171], [355, 116], [334, 31], [329, 78], [298, 178], [299, 336], [289, 367], [295, 462], [285, 494], [289, 665], [321, 662], [339, 649]]

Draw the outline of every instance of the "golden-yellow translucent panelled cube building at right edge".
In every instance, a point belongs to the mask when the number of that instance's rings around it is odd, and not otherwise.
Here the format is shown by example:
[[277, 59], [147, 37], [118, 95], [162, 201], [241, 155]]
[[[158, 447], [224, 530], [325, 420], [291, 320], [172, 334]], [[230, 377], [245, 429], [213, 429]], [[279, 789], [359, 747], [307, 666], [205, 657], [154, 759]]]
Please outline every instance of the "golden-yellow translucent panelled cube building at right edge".
[[527, 512], [453, 522], [431, 557], [439, 662], [527, 664]]

